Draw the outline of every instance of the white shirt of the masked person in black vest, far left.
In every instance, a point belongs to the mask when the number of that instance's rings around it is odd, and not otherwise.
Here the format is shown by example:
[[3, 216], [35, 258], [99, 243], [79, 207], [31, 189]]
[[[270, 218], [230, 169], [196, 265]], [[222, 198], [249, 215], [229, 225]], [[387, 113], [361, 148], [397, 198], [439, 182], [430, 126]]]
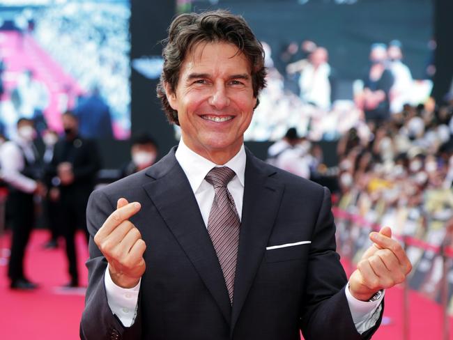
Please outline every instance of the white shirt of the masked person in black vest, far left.
[[[21, 150], [22, 148], [22, 150]], [[24, 176], [24, 157], [33, 163], [36, 161], [33, 144], [18, 137], [17, 141], [6, 141], [0, 147], [1, 178], [17, 190], [32, 194], [36, 190], [36, 180]]]

